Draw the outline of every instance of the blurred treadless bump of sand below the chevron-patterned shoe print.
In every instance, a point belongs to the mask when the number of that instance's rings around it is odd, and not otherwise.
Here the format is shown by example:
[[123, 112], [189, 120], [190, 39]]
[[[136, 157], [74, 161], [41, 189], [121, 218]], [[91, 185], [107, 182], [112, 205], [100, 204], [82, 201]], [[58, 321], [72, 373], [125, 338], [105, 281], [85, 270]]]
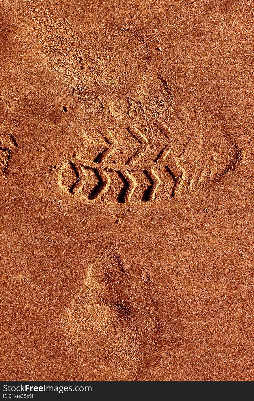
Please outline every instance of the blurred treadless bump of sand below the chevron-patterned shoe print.
[[95, 375], [138, 380], [158, 360], [165, 316], [158, 312], [149, 281], [149, 272], [142, 270], [132, 282], [119, 255], [87, 271], [63, 317], [69, 349], [79, 354], [80, 375], [86, 380]]

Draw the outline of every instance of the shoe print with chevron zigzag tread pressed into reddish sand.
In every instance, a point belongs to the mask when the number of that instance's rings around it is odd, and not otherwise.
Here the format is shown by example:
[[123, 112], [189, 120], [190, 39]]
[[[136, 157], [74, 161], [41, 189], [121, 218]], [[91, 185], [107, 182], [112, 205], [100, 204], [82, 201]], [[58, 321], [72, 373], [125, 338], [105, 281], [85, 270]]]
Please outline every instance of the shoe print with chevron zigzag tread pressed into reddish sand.
[[[173, 138], [175, 134], [165, 125], [161, 128], [161, 132], [163, 132], [166, 138], [166, 143], [161, 147], [156, 159], [149, 162], [146, 155], [149, 152], [151, 154], [152, 149], [146, 136], [134, 126], [128, 127], [126, 130], [141, 144], [138, 150], [134, 151], [126, 162], [122, 160], [122, 163], [119, 164], [119, 162], [112, 161], [112, 157], [117, 154], [120, 145], [111, 128], [107, 128], [101, 132], [108, 146], [101, 152], [99, 158], [92, 161], [74, 157], [69, 161], [74, 166], [77, 175], [77, 180], [73, 184], [71, 191], [73, 194], [84, 196], [84, 188], [89, 184], [87, 172], [90, 170], [96, 173], [101, 180], [98, 183], [96, 193], [92, 196], [92, 199], [95, 201], [110, 201], [113, 192], [120, 193], [123, 190], [124, 183], [121, 186], [120, 181], [114, 179], [114, 174], [122, 176], [127, 183], [127, 188], [123, 196], [124, 202], [136, 202], [138, 201], [138, 196], [140, 196], [140, 200], [154, 201], [160, 187], [160, 196], [163, 193], [165, 194], [165, 188], [169, 188], [167, 189], [168, 195], [166, 198], [178, 196], [188, 189], [193, 191], [207, 180], [215, 180], [219, 174], [223, 174], [223, 168], [226, 172], [230, 168], [235, 168], [240, 163], [241, 157], [239, 156], [234, 161], [233, 155], [231, 157], [233, 161], [230, 162], [231, 159], [229, 161], [226, 159], [226, 162], [224, 162], [226, 166], [223, 167], [223, 154], [212, 156], [207, 161], [203, 160], [200, 143], [197, 142], [197, 148], [193, 148], [193, 145], [190, 143], [191, 138], [187, 141], [185, 140], [181, 150]], [[193, 171], [188, 171], [186, 170], [188, 164], [184, 160], [186, 160], [185, 154], [188, 156], [191, 146], [191, 151], [193, 152], [193, 149], [196, 149], [195, 152], [197, 152], [197, 155], [194, 156]], [[232, 146], [234, 149], [231, 151], [228, 150], [228, 152], [237, 153], [237, 155], [240, 154], [239, 148], [237, 148], [239, 151], [236, 152], [236, 145]], [[61, 174], [63, 174], [63, 168], [61, 168]], [[150, 183], [146, 177], [149, 178]], [[144, 193], [142, 191], [148, 191], [146, 198], [142, 196], [142, 193]]]

